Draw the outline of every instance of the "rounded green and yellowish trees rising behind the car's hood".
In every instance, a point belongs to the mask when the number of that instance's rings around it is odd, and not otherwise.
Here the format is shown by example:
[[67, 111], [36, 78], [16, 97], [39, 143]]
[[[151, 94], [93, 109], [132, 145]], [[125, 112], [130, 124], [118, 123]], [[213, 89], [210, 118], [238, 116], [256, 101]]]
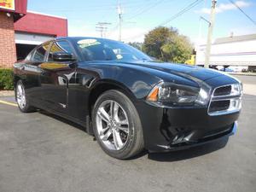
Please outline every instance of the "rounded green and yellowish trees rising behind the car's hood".
[[189, 39], [178, 34], [174, 28], [160, 26], [145, 36], [144, 51], [160, 61], [183, 63], [192, 54], [193, 47]]

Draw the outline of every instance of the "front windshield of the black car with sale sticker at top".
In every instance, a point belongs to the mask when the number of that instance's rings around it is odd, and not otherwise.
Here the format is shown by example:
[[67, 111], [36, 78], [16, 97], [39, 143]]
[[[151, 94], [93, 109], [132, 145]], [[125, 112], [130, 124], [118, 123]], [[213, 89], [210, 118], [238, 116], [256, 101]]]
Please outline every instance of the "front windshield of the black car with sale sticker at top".
[[76, 40], [76, 44], [84, 61], [151, 60], [138, 49], [113, 40], [80, 38]]

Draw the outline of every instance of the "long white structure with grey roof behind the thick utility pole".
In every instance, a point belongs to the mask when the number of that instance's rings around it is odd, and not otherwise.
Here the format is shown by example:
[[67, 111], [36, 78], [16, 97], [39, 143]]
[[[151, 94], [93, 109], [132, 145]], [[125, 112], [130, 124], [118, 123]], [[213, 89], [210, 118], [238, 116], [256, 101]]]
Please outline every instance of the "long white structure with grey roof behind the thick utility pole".
[[[206, 44], [196, 49], [196, 65], [205, 63]], [[212, 44], [210, 66], [256, 67], [256, 34], [217, 38]]]

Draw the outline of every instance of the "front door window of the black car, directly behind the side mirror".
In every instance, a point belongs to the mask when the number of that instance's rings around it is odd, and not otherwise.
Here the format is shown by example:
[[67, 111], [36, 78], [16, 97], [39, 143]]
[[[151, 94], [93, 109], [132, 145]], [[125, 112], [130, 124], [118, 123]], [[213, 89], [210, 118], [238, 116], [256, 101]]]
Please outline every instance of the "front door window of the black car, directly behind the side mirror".
[[67, 41], [57, 41], [52, 44], [51, 48], [49, 49], [48, 61], [53, 61], [53, 54], [55, 52], [65, 52], [74, 55], [73, 49]]

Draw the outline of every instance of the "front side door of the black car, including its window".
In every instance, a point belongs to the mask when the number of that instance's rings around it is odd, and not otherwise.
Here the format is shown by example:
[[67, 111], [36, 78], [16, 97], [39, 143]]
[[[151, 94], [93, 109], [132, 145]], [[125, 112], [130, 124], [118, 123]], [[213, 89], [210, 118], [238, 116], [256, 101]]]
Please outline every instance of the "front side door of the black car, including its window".
[[67, 113], [68, 84], [75, 79], [75, 61], [55, 61], [55, 53], [71, 53], [73, 47], [67, 40], [54, 41], [49, 49], [46, 61], [39, 67], [41, 69], [40, 82], [44, 90], [46, 108], [60, 113]]

